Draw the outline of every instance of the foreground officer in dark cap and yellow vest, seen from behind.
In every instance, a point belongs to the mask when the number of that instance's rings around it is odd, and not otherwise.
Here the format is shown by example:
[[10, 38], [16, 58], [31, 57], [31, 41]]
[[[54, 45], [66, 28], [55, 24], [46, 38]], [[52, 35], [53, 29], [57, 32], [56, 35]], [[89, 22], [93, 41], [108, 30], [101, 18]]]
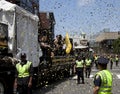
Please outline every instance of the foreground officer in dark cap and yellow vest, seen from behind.
[[108, 59], [98, 58], [98, 69], [94, 77], [93, 94], [112, 94], [112, 74], [107, 70]]

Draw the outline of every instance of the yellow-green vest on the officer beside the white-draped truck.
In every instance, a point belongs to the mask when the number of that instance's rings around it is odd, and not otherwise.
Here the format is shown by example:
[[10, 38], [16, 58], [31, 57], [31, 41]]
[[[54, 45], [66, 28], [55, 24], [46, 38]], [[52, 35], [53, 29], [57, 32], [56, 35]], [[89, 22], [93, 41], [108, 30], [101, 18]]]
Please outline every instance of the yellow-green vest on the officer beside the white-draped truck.
[[27, 63], [23, 66], [20, 63], [16, 64], [16, 69], [18, 71], [19, 78], [29, 76], [29, 68], [30, 68], [31, 64], [32, 64], [32, 62], [30, 62], [30, 61], [27, 61]]

